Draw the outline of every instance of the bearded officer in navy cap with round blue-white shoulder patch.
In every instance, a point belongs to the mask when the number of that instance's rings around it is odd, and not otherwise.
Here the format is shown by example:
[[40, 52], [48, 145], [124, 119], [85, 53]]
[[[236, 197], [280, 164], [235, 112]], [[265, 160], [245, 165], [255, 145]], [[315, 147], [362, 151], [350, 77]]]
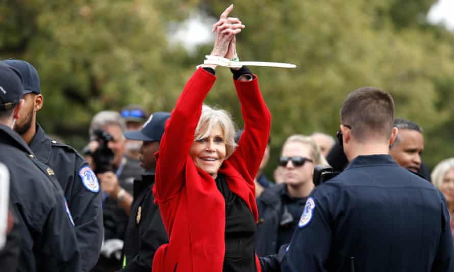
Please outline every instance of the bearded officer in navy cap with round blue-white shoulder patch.
[[36, 113], [43, 105], [36, 69], [21, 60], [5, 60], [4, 63], [19, 71], [23, 79], [25, 104], [14, 130], [41, 162], [54, 169], [73, 216], [83, 260], [82, 271], [90, 271], [98, 260], [103, 239], [103, 211], [97, 178], [77, 151], [49, 138], [36, 123]]

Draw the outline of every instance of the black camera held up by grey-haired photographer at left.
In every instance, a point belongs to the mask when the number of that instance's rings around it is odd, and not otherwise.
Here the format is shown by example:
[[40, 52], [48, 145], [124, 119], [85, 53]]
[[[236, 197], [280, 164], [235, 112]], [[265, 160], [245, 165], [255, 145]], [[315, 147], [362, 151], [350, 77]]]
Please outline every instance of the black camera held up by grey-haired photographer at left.
[[91, 154], [95, 165], [95, 174], [113, 171], [111, 163], [114, 153], [108, 146], [109, 142], [113, 141], [113, 136], [109, 134], [109, 132], [101, 129], [93, 130], [93, 136], [93, 140], [97, 141], [99, 144], [96, 151]]

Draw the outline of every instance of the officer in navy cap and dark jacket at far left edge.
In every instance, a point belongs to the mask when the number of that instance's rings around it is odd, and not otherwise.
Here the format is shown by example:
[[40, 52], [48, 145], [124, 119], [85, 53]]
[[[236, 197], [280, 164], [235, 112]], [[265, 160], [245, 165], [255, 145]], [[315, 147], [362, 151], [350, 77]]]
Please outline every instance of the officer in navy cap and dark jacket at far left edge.
[[17, 271], [80, 271], [71, 214], [55, 172], [12, 130], [24, 105], [22, 91], [20, 73], [0, 63], [0, 162], [10, 171], [11, 203], [20, 225]]

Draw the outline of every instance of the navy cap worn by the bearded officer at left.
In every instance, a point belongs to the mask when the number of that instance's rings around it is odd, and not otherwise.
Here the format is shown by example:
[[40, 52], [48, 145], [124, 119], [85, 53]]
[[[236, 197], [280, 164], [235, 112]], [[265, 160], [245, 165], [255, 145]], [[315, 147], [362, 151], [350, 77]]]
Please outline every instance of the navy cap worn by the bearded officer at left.
[[13, 67], [22, 75], [23, 94], [35, 93], [40, 94], [39, 75], [35, 67], [30, 63], [22, 60], [4, 60], [8, 66]]

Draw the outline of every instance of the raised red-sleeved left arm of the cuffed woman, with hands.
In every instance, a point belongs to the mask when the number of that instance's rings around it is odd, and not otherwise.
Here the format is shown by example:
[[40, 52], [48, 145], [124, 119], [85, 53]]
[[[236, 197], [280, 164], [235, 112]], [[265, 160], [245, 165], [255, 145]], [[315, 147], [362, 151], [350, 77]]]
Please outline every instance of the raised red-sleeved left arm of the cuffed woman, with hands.
[[[213, 25], [216, 33], [212, 56], [225, 57], [233, 37], [244, 28], [237, 18], [229, 18], [233, 5], [228, 7]], [[183, 186], [183, 171], [189, 149], [194, 141], [195, 128], [201, 114], [205, 97], [216, 77], [204, 70], [216, 69], [215, 65], [201, 65], [186, 83], [176, 101], [161, 139], [156, 166], [155, 198], [165, 201], [175, 196]]]

